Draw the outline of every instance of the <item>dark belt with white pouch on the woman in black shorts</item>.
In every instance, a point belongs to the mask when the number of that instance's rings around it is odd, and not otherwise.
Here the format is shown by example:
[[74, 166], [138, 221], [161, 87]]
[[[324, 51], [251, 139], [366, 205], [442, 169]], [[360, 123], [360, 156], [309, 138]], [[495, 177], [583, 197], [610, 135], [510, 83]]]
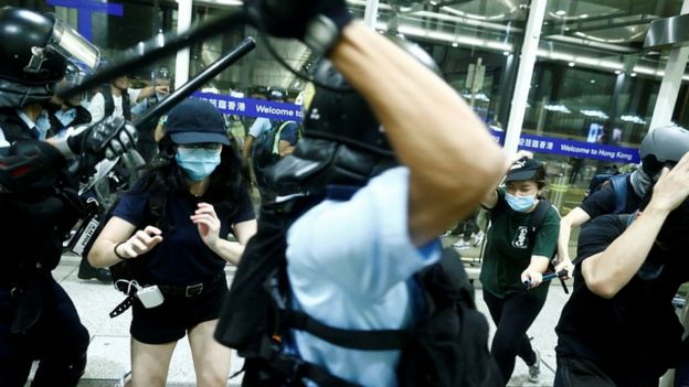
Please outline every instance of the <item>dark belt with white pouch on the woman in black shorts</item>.
[[187, 286], [179, 284], [139, 284], [137, 281], [125, 281], [127, 284], [123, 287], [117, 282], [123, 280], [118, 280], [115, 283], [115, 288], [120, 290], [127, 298], [120, 302], [115, 309], [110, 312], [110, 318], [116, 318], [124, 313], [127, 309], [129, 309], [134, 304], [135, 299], [139, 299], [141, 304], [147, 308], [156, 308], [165, 302], [163, 295], [169, 295], [173, 298], [194, 298], [203, 294], [204, 292], [213, 289], [215, 284], [218, 284], [225, 277], [225, 272], [221, 271], [215, 275], [211, 279], [193, 283]]

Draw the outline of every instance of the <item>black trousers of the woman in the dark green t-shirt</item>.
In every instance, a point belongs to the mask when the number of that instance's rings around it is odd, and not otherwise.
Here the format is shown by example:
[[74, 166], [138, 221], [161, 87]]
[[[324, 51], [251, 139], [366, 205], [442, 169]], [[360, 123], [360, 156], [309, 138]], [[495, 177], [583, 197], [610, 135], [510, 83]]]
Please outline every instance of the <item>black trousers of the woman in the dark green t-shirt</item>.
[[497, 326], [490, 345], [490, 354], [500, 368], [502, 381], [507, 385], [515, 370], [517, 356], [527, 364], [536, 362], [536, 352], [531, 348], [527, 331], [540, 313], [545, 300], [529, 292], [513, 293], [501, 299], [486, 290], [484, 290], [484, 300]]

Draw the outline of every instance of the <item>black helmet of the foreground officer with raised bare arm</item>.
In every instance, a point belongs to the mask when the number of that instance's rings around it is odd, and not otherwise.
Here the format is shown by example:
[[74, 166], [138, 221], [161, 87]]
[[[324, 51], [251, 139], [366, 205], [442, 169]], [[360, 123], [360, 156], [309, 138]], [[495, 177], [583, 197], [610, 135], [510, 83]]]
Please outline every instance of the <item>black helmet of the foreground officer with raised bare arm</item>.
[[[388, 36], [393, 43], [411, 54], [424, 66], [441, 75], [441, 69], [433, 57], [415, 43], [396, 35]], [[321, 60], [314, 66], [315, 94], [304, 119], [304, 136], [349, 144], [356, 149], [392, 155], [384, 132], [369, 104], [357, 93], [342, 74], [328, 60]]]

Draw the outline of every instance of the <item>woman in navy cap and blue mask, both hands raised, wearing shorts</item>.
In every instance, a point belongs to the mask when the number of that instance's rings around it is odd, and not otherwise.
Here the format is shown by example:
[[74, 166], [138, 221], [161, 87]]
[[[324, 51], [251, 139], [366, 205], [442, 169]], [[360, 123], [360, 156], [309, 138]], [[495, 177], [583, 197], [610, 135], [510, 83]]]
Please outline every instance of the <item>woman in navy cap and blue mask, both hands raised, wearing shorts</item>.
[[127, 260], [139, 284], [158, 286], [162, 293], [159, 305], [132, 305], [135, 386], [166, 385], [184, 335], [197, 385], [225, 386], [230, 348], [213, 332], [227, 293], [225, 265], [239, 264], [256, 233], [247, 170], [221, 114], [201, 99], [170, 110], [159, 150], [151, 170], [115, 207], [88, 259], [96, 267]]

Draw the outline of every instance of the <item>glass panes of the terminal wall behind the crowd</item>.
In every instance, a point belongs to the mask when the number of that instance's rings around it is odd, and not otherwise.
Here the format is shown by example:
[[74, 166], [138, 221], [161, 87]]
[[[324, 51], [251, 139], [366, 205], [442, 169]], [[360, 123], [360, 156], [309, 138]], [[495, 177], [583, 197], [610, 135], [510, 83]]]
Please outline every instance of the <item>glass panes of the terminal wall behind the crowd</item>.
[[[106, 61], [140, 41], [156, 36], [162, 40], [165, 33], [176, 31], [179, 7], [177, 1], [163, 0], [6, 2], [56, 12], [89, 33]], [[193, 4], [193, 22], [199, 23], [236, 11], [242, 1], [195, 0]], [[353, 15], [363, 18], [365, 0], [349, 0], [348, 4]], [[646, 31], [650, 21], [679, 14], [680, 6], [680, 1], [664, 0], [548, 2], [522, 123], [522, 144], [538, 144], [532, 149], [550, 161], [553, 179], [559, 178], [558, 186], [566, 186], [569, 195], [558, 203], [565, 212], [581, 200], [582, 189], [596, 171], [612, 164], [619, 169], [625, 162], [601, 160], [594, 154], [574, 157], [559, 152], [556, 144], [638, 146], [649, 129], [669, 54], [645, 51]], [[424, 46], [441, 65], [446, 80], [501, 137], [510, 117], [529, 11], [528, 0], [386, 0], [379, 4], [375, 29]], [[206, 86], [221, 94], [233, 90], [254, 97], [264, 96], [268, 87], [280, 87], [294, 100], [304, 82], [280, 66], [269, 54], [266, 40], [251, 26], [229, 30], [191, 47], [190, 76], [247, 35], [256, 37], [257, 49]], [[296, 69], [306, 69], [316, 60], [300, 43], [271, 42]], [[151, 74], [162, 66], [174, 74], [174, 57], [138, 69], [134, 74], [137, 83], [150, 83]], [[685, 76], [672, 117], [685, 126], [689, 126], [687, 79], [689, 75]]]

